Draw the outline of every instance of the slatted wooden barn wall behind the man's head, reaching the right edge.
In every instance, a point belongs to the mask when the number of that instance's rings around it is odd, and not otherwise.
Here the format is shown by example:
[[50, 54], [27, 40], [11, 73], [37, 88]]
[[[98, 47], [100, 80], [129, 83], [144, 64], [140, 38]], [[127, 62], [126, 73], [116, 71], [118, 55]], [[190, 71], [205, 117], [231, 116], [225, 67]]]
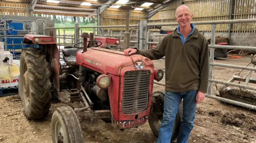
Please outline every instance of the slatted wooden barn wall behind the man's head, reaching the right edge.
[[[186, 4], [193, 12], [192, 21], [217, 21], [228, 20], [231, 0], [180, 0], [159, 10], [148, 19], [148, 23], [171, 23], [175, 21], [175, 9], [181, 4]], [[256, 18], [256, 0], [236, 0], [233, 5], [231, 19]], [[197, 25], [200, 31], [211, 31], [211, 25]], [[163, 27], [172, 29], [175, 26]], [[218, 32], [227, 32], [228, 24], [217, 24]], [[231, 32], [255, 32], [255, 23], [231, 24]], [[157, 31], [157, 30], [154, 30]]]

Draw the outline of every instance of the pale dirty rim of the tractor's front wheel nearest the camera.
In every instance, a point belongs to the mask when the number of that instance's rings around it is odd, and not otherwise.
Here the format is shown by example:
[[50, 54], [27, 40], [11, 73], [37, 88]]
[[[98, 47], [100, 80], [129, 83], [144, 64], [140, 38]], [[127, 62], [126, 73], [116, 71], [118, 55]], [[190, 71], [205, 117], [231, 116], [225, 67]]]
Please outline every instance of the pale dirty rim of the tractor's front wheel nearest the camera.
[[55, 141], [56, 142], [66, 142], [67, 141], [67, 137], [65, 135], [65, 131], [62, 128], [62, 125], [59, 121], [56, 122], [55, 124], [55, 128], [54, 128], [54, 137], [55, 137]]

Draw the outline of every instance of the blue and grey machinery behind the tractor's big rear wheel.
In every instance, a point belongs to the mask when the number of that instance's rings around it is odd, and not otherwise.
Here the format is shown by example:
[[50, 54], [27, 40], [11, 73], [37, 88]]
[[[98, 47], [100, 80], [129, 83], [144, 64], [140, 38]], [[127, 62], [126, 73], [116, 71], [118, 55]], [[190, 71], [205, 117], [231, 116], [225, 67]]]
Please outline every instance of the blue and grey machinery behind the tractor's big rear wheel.
[[54, 27], [54, 20], [36, 16], [0, 15], [0, 41], [4, 42], [5, 51], [10, 51], [13, 59], [18, 60], [22, 48], [33, 46], [24, 44], [23, 37], [26, 34], [49, 35], [51, 30], [46, 33], [46, 25]]

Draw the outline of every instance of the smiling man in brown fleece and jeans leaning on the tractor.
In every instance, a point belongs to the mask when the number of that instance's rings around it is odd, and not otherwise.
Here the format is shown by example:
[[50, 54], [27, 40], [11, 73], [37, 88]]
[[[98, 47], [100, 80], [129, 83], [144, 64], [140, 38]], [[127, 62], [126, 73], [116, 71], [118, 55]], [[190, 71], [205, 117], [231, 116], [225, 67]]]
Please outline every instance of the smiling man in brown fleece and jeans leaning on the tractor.
[[175, 115], [183, 99], [183, 117], [177, 142], [188, 142], [194, 127], [196, 105], [203, 101], [209, 78], [209, 49], [204, 35], [191, 24], [193, 13], [187, 5], [177, 8], [177, 29], [165, 36], [155, 48], [129, 48], [126, 56], [141, 54], [150, 60], [165, 56], [164, 115], [157, 142], [170, 143]]

